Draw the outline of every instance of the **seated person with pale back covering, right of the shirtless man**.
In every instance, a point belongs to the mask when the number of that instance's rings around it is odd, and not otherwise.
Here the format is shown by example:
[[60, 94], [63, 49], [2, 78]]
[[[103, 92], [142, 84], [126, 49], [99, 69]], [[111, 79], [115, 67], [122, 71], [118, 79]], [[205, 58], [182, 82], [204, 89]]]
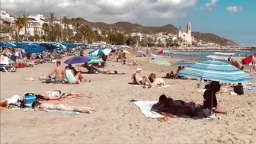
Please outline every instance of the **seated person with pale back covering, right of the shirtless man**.
[[66, 75], [66, 79], [69, 84], [79, 84], [78, 80], [80, 80], [80, 82], [82, 82], [82, 78], [83, 78], [82, 73], [77, 72], [75, 74], [75, 72], [72, 69], [69, 69], [69, 67], [66, 69], [65, 75]]

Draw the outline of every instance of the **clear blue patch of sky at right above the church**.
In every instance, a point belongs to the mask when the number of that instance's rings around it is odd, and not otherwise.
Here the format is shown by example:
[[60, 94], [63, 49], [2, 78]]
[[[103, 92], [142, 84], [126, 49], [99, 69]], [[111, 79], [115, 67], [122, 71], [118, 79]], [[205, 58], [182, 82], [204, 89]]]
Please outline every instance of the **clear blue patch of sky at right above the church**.
[[[176, 27], [186, 28], [187, 21], [193, 31], [213, 33], [245, 46], [256, 46], [256, 0], [219, 0], [212, 11], [200, 9], [210, 0], [200, 0], [185, 9], [187, 16], [174, 21]], [[229, 12], [227, 7], [242, 7], [242, 11]]]

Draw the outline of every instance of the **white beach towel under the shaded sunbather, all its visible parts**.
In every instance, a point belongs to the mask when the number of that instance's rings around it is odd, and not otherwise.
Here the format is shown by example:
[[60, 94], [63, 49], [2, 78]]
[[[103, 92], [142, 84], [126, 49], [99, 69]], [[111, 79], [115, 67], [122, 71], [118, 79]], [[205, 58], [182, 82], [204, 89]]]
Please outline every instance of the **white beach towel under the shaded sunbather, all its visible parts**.
[[[157, 101], [135, 101], [134, 104], [136, 104], [137, 107], [139, 107], [139, 110], [142, 111], [142, 114], [146, 118], [152, 118], [152, 119], [158, 119], [160, 117], [165, 117], [159, 114], [155, 108], [152, 106], [157, 103]], [[189, 117], [185, 114], [182, 114], [178, 118], [190, 118], [190, 119], [205, 119], [206, 117]]]

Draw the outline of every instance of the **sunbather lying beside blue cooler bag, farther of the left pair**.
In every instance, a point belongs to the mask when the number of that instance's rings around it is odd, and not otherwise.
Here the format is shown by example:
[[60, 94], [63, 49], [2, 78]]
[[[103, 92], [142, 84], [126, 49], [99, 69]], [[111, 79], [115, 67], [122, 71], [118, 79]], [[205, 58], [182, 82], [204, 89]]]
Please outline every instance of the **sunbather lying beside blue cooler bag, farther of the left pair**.
[[44, 91], [42, 94], [36, 94], [36, 98], [39, 100], [58, 100], [60, 98], [65, 98], [69, 95], [82, 96], [82, 93], [68, 92], [68, 91]]

